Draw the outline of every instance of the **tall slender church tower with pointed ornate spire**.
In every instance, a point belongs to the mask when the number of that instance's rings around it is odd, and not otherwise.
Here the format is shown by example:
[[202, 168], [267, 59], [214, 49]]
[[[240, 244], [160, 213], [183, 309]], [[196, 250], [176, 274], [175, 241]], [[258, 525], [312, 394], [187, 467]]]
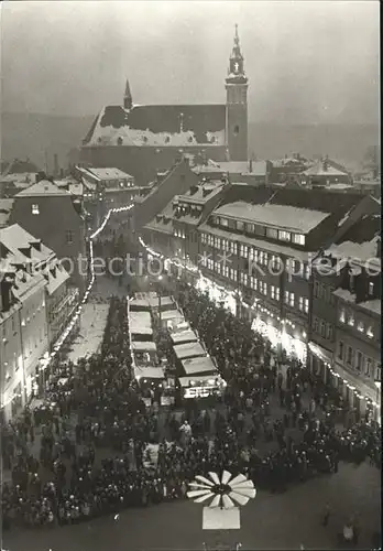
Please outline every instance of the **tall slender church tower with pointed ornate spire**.
[[248, 160], [248, 86], [236, 25], [234, 46], [226, 78], [226, 137], [230, 161]]

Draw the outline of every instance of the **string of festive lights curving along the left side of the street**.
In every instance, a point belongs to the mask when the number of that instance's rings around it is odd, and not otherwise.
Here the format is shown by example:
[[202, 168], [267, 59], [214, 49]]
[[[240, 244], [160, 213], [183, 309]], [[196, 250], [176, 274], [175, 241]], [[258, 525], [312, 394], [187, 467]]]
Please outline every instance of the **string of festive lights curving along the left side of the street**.
[[[45, 371], [45, 369], [47, 369], [47, 367], [50, 366], [50, 364], [53, 361], [53, 359], [56, 357], [56, 355], [61, 350], [64, 342], [67, 339], [68, 335], [73, 331], [73, 328], [74, 328], [77, 320], [79, 318], [79, 316], [81, 314], [83, 307], [84, 307], [84, 305], [86, 304], [86, 302], [87, 302], [87, 300], [89, 298], [90, 291], [91, 291], [91, 289], [94, 287], [94, 283], [95, 283], [95, 280], [96, 280], [95, 266], [94, 266], [94, 260], [95, 260], [95, 257], [94, 257], [94, 239], [103, 230], [103, 228], [108, 224], [108, 220], [109, 220], [109, 218], [110, 218], [110, 216], [112, 214], [117, 214], [117, 213], [122, 213], [122, 212], [125, 212], [125, 210], [130, 210], [133, 206], [134, 206], [134, 204], [131, 203], [130, 205], [127, 205], [124, 207], [110, 208], [108, 210], [107, 215], [105, 216], [101, 225], [98, 227], [98, 229], [96, 231], [94, 231], [94, 234], [91, 234], [91, 236], [89, 236], [90, 281], [89, 281], [88, 287], [87, 287], [87, 289], [86, 289], [86, 291], [84, 293], [81, 302], [78, 304], [77, 309], [74, 312], [74, 315], [73, 315], [70, 322], [65, 327], [65, 329], [62, 333], [62, 335], [59, 336], [59, 338], [56, 341], [56, 343], [55, 343], [55, 345], [53, 347], [53, 352], [51, 354], [46, 353], [46, 357], [44, 357], [41, 360], [40, 367], [41, 367], [41, 369], [43, 371]], [[35, 380], [36, 378], [37, 378], [37, 376], [34, 376], [32, 378], [32, 380]], [[28, 389], [28, 385], [24, 385], [22, 388], [23, 388], [23, 390]], [[14, 398], [22, 398], [22, 393], [10, 396], [9, 400], [7, 400], [7, 402], [1, 403], [0, 408], [1, 409], [6, 408], [9, 403], [12, 402], [12, 400], [14, 400]]]

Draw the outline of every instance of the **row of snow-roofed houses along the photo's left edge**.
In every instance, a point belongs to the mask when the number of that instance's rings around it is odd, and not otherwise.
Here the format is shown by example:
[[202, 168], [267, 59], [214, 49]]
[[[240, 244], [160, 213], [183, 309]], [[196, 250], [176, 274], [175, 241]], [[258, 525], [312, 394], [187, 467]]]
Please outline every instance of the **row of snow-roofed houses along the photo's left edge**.
[[[14, 224], [0, 230], [0, 377], [9, 418], [43, 390], [46, 355], [77, 305], [69, 274], [40, 239]], [[40, 388], [39, 388], [40, 385]]]

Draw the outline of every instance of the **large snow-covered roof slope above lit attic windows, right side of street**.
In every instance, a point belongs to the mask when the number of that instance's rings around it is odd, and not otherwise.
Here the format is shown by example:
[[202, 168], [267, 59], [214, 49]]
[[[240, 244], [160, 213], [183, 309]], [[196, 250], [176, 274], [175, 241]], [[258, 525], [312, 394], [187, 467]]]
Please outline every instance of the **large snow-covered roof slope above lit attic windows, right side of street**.
[[250, 223], [262, 224], [276, 228], [288, 229], [299, 234], [307, 234], [330, 216], [329, 213], [310, 210], [287, 205], [251, 205], [243, 201], [222, 205], [214, 212], [217, 216], [243, 219]]

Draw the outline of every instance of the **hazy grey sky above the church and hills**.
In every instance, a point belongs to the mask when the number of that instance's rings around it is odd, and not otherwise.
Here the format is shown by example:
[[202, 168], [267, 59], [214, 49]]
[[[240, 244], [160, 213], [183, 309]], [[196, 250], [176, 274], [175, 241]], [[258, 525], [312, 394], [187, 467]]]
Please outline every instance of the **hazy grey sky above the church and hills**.
[[225, 101], [239, 24], [253, 121], [377, 122], [379, 2], [2, 2], [3, 111]]

